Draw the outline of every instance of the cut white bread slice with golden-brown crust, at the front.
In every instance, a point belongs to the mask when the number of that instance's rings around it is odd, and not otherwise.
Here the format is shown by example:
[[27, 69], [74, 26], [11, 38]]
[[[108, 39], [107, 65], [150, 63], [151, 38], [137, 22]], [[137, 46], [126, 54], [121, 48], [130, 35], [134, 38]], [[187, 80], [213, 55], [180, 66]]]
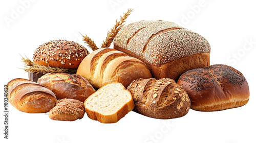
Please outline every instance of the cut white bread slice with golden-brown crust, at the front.
[[88, 117], [100, 123], [116, 123], [134, 108], [131, 93], [121, 83], [99, 88], [84, 102]]

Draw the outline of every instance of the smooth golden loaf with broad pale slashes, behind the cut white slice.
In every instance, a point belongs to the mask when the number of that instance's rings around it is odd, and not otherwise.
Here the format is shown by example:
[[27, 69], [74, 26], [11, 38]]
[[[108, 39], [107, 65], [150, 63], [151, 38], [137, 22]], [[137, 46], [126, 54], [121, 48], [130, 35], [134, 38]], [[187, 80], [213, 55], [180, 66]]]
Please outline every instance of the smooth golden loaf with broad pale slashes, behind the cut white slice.
[[109, 48], [89, 54], [79, 65], [76, 74], [85, 77], [95, 88], [112, 82], [122, 83], [126, 88], [135, 79], [152, 78], [142, 61]]

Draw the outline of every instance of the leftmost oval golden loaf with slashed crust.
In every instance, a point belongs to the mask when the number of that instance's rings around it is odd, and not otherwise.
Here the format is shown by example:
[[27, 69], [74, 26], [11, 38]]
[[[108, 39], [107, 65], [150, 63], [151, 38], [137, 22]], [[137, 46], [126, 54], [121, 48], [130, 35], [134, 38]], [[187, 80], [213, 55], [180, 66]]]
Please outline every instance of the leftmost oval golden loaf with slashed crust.
[[7, 86], [8, 101], [19, 111], [45, 113], [56, 104], [55, 94], [36, 82], [18, 78], [11, 80]]

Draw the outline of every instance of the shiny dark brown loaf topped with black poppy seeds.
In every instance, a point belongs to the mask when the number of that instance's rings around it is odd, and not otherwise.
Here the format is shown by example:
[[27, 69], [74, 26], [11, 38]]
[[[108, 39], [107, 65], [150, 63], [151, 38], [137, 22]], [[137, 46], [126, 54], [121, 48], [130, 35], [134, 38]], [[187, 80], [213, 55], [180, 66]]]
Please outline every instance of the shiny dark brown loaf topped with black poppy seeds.
[[186, 71], [178, 82], [191, 100], [191, 109], [219, 111], [245, 105], [249, 86], [245, 77], [233, 67], [216, 64]]

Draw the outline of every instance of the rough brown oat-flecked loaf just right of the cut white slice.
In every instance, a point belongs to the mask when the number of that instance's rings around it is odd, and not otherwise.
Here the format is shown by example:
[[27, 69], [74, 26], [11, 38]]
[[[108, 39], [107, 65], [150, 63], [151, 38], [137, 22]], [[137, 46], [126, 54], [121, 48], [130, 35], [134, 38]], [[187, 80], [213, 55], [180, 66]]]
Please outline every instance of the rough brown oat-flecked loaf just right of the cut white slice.
[[137, 79], [127, 87], [133, 96], [134, 111], [154, 118], [177, 118], [187, 114], [190, 100], [173, 79]]

